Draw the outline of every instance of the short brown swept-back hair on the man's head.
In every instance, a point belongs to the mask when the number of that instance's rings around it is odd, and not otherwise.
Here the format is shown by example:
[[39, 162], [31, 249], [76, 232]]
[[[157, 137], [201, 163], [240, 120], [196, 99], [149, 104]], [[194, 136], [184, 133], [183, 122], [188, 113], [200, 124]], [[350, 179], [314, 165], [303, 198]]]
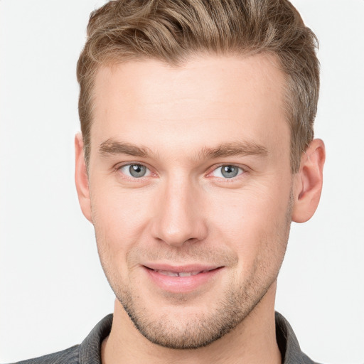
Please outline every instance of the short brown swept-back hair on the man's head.
[[317, 39], [287, 0], [112, 0], [92, 12], [77, 63], [85, 159], [90, 156], [92, 89], [100, 65], [154, 58], [178, 65], [201, 52], [268, 52], [286, 76], [291, 170], [314, 138], [319, 97]]

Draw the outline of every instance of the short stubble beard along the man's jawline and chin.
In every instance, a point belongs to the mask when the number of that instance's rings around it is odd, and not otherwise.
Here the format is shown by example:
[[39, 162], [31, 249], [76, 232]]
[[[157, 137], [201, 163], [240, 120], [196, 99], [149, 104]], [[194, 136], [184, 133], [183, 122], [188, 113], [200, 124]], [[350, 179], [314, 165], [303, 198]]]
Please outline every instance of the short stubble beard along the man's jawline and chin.
[[[284, 223], [277, 227], [273, 241], [272, 237], [263, 237], [261, 243], [265, 253], [257, 257], [249, 277], [245, 277], [239, 284], [232, 282], [220, 295], [213, 310], [190, 314], [183, 321], [176, 322], [173, 314], [162, 314], [153, 319], [153, 315], [148, 311], [148, 303], [143, 304], [139, 295], [132, 293], [133, 287], [121, 284], [117, 277], [113, 277], [99, 250], [102, 267], [124, 311], [141, 335], [151, 343], [180, 350], [208, 346], [242, 323], [276, 281], [287, 248], [292, 205], [291, 196]], [[99, 244], [98, 247], [100, 248]], [[272, 262], [269, 256], [273, 256], [275, 262]], [[186, 298], [183, 295], [175, 296], [175, 305], [178, 300], [182, 306]]]

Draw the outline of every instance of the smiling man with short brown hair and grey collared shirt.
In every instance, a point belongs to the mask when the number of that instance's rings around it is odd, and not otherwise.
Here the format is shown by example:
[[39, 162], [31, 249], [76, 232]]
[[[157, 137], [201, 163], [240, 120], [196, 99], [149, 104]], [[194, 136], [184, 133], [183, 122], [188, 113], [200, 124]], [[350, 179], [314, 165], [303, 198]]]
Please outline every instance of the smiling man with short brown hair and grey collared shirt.
[[115, 296], [24, 363], [313, 363], [274, 314], [319, 203], [316, 38], [288, 1], [110, 1], [77, 65], [75, 181]]

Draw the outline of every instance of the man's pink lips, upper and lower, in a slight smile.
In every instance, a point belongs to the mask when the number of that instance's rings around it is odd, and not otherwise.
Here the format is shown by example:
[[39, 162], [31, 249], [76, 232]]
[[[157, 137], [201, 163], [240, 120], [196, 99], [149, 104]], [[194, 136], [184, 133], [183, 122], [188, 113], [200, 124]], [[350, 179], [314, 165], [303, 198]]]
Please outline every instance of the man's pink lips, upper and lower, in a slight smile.
[[[217, 274], [223, 267], [211, 266], [205, 264], [187, 264], [187, 265], [170, 265], [170, 264], [144, 264], [144, 271], [148, 275], [152, 284], [164, 291], [171, 293], [188, 293], [196, 289], [211, 284]], [[192, 275], [173, 275], [188, 274]]]

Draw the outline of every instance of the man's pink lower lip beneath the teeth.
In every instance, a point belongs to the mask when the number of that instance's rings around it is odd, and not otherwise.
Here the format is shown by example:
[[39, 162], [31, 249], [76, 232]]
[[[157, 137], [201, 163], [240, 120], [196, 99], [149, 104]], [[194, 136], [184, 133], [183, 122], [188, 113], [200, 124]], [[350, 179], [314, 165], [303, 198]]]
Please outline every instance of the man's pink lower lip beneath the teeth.
[[223, 267], [210, 270], [208, 272], [198, 273], [194, 276], [188, 277], [172, 277], [166, 276], [153, 269], [144, 267], [146, 273], [149, 274], [151, 280], [164, 291], [171, 293], [186, 293], [193, 291], [213, 281], [216, 274], [220, 272]]

